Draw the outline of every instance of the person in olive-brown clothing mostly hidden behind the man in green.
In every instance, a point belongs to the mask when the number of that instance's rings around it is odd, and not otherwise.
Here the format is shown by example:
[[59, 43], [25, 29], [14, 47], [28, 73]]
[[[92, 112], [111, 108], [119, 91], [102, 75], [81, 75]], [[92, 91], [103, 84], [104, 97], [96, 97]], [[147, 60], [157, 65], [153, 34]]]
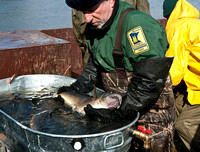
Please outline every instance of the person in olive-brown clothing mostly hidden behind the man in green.
[[[130, 3], [137, 10], [143, 11], [150, 15], [148, 0], [123, 0], [123, 1]], [[72, 24], [73, 24], [74, 35], [82, 51], [83, 67], [85, 69], [90, 55], [88, 52], [88, 46], [85, 39], [85, 27], [87, 23], [85, 23], [85, 17], [83, 12], [72, 8]]]

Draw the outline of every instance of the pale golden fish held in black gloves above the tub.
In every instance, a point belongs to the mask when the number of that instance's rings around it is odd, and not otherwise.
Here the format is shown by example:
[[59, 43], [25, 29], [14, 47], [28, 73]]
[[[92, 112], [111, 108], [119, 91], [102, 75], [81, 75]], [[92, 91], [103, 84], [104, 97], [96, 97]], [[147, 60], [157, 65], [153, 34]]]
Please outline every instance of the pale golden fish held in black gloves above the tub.
[[86, 107], [87, 104], [90, 104], [93, 108], [97, 109], [114, 109], [118, 108], [122, 102], [122, 96], [117, 93], [103, 93], [97, 99], [73, 91], [61, 92], [60, 94], [54, 95], [54, 97], [60, 96], [64, 99], [64, 104], [72, 107], [74, 111], [77, 111], [82, 115], [85, 114], [84, 107]]

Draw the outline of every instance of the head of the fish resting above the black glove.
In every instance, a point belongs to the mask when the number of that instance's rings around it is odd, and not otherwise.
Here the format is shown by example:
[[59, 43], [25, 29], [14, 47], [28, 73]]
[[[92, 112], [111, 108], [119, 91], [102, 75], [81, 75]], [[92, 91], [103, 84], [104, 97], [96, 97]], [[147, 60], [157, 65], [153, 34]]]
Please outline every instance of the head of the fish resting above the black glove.
[[93, 102], [93, 108], [118, 108], [122, 103], [122, 96], [117, 93], [104, 93]]

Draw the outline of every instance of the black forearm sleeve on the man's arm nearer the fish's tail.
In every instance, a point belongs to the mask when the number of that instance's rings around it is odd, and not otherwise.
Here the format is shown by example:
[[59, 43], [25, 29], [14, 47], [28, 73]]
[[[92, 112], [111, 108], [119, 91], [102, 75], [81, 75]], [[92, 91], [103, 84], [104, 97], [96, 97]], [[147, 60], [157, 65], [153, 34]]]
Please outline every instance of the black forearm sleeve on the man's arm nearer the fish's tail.
[[97, 73], [97, 67], [95, 67], [93, 60], [90, 57], [86, 69], [82, 72], [81, 76], [70, 85], [70, 87], [79, 93], [88, 93], [92, 91], [97, 81]]

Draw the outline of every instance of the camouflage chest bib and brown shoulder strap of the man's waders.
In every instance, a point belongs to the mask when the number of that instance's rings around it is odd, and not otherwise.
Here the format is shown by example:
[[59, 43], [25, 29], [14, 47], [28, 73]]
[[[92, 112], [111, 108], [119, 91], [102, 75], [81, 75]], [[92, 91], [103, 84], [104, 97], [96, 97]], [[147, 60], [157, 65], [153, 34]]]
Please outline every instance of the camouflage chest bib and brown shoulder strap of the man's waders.
[[125, 70], [124, 68], [124, 55], [121, 51], [121, 39], [122, 39], [122, 24], [125, 16], [135, 9], [126, 9], [120, 17], [117, 35], [115, 40], [115, 47], [113, 49], [113, 59], [115, 64], [115, 71], [111, 72], [101, 72], [103, 86], [108, 92], [118, 92], [120, 94], [125, 94], [128, 89], [128, 84], [132, 78], [132, 72]]

